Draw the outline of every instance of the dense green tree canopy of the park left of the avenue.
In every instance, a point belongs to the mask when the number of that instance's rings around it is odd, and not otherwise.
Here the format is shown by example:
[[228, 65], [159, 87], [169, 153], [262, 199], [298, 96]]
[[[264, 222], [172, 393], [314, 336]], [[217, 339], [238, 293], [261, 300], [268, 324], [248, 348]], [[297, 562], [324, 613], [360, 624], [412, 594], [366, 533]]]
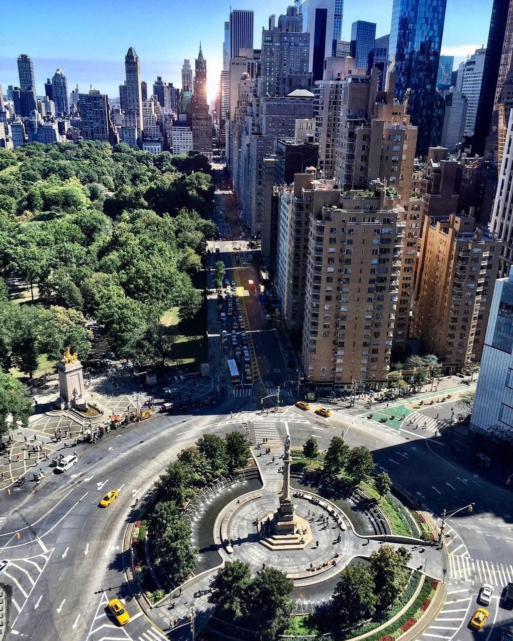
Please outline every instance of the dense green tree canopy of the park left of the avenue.
[[201, 306], [193, 279], [217, 235], [206, 219], [213, 197], [208, 160], [195, 153], [100, 142], [0, 149], [0, 276], [24, 279], [40, 306], [0, 312], [0, 367], [31, 376], [62, 343], [86, 358], [80, 313], [103, 325], [118, 358], [172, 357], [160, 319], [171, 307], [190, 319]]

